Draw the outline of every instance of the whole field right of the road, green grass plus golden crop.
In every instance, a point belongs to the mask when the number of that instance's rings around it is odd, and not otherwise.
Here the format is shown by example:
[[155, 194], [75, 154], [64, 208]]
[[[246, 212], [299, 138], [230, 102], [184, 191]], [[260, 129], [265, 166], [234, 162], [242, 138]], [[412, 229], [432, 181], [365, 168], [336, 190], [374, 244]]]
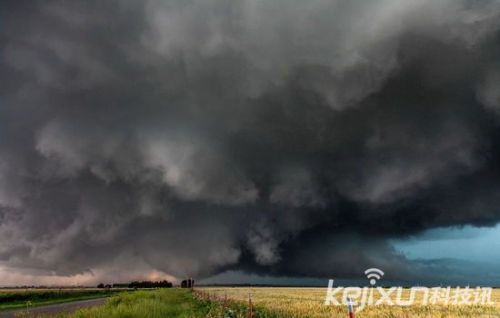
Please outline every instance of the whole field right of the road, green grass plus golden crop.
[[[406, 296], [408, 290], [404, 291]], [[205, 287], [123, 292], [105, 305], [59, 314], [59, 318], [246, 318], [251, 295], [253, 318], [348, 317], [344, 305], [325, 306], [326, 288]], [[500, 317], [500, 290], [492, 305], [368, 306], [357, 318], [476, 318]], [[417, 302], [418, 303], [418, 302]], [[22, 317], [22, 315], [21, 315]], [[53, 316], [52, 316], [53, 317]]]

